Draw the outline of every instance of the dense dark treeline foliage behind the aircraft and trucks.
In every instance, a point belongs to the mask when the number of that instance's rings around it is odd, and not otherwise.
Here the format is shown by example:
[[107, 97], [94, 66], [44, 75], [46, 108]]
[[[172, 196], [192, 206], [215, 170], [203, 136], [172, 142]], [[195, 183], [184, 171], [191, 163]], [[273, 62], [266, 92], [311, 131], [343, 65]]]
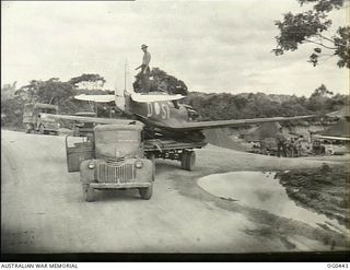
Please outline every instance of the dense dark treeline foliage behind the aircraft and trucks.
[[[165, 82], [162, 81], [166, 78]], [[171, 80], [168, 80], [171, 78]], [[153, 82], [167, 83], [167, 89], [187, 86], [183, 81], [155, 68]], [[98, 74], [82, 74], [68, 82], [58, 78], [46, 81], [33, 80], [30, 84], [16, 87], [13, 83], [1, 87], [1, 126], [22, 129], [23, 105], [40, 102], [59, 106], [60, 114], [96, 110], [93, 104], [73, 98], [78, 94], [113, 94], [103, 91], [105, 79]], [[83, 85], [83, 89], [81, 87]], [[191, 105], [201, 120], [242, 119], [255, 117], [295, 116], [323, 114], [337, 110], [349, 104], [349, 96], [332, 94], [325, 85], [317, 87], [310, 97], [295, 95], [267, 95], [265, 93], [212, 93], [188, 92], [185, 103]], [[114, 104], [98, 104], [98, 116], [108, 117], [108, 107]]]

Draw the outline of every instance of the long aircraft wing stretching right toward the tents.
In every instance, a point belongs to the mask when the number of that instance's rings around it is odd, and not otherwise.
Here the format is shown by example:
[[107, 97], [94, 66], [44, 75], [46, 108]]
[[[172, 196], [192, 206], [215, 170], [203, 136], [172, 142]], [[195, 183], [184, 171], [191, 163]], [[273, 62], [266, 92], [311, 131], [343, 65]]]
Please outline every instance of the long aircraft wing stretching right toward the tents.
[[308, 116], [294, 116], [294, 117], [270, 117], [270, 118], [253, 118], [253, 119], [237, 119], [237, 120], [218, 120], [218, 121], [177, 121], [176, 119], [168, 119], [167, 122], [150, 122], [150, 119], [144, 119], [150, 124], [158, 126], [163, 129], [173, 131], [190, 131], [190, 130], [203, 130], [203, 129], [215, 129], [226, 127], [241, 127], [246, 125], [273, 122], [273, 121], [290, 121], [313, 118], [315, 115]]

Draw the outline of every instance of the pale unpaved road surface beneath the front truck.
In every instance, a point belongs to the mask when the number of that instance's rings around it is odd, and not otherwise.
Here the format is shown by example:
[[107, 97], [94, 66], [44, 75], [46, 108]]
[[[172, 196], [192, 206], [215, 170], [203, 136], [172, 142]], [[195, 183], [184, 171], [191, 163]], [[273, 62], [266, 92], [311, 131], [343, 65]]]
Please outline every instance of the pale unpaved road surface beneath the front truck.
[[[153, 197], [136, 190], [82, 199], [68, 174], [65, 138], [1, 132], [2, 253], [261, 253], [349, 249], [347, 234], [217, 198], [198, 178], [234, 171], [319, 167], [214, 146], [197, 151], [194, 172], [156, 161]], [[345, 166], [343, 160], [329, 163]]]

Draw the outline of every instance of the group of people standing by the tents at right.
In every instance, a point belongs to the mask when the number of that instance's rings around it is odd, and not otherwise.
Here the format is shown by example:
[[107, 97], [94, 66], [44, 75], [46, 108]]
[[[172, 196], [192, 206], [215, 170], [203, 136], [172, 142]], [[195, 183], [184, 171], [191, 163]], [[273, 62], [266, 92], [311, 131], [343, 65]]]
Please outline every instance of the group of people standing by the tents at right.
[[[302, 142], [304, 141], [304, 137], [300, 136], [298, 139], [292, 138], [288, 140], [283, 134], [283, 128], [279, 128], [276, 134], [276, 142], [277, 142], [277, 156], [280, 157], [281, 153], [282, 156], [300, 156], [302, 152]], [[288, 155], [287, 153], [290, 153]]]

